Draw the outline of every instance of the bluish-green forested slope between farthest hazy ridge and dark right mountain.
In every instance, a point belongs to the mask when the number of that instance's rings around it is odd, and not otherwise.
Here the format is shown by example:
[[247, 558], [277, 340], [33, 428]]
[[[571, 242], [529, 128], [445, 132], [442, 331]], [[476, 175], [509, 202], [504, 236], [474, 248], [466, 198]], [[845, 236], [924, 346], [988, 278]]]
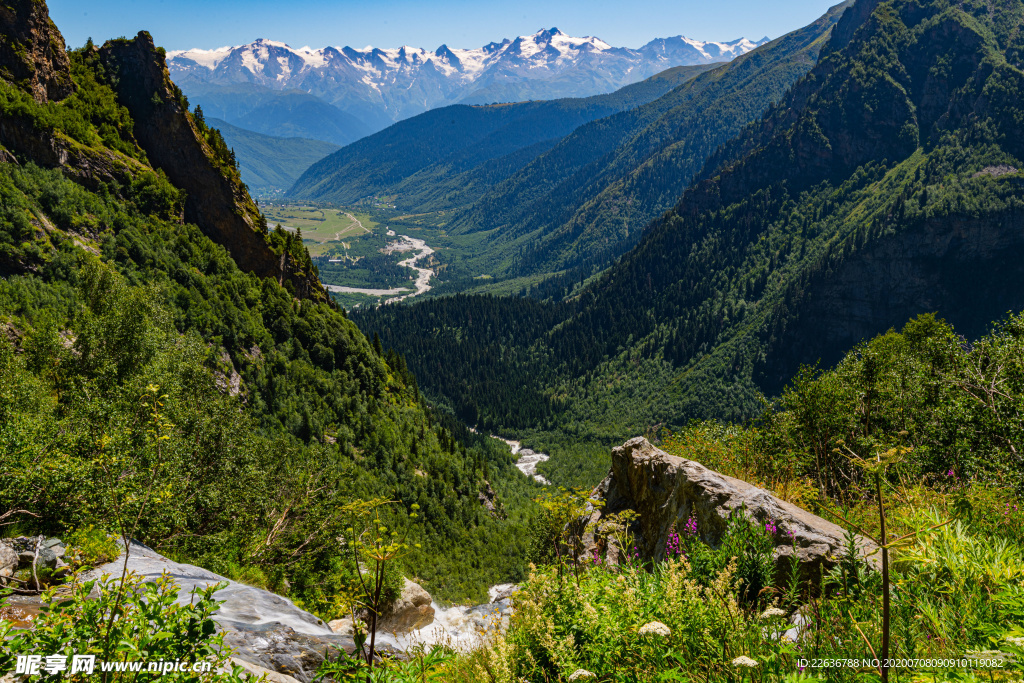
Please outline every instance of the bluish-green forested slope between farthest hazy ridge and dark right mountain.
[[450, 229], [494, 230], [485, 258], [506, 275], [606, 264], [675, 205], [719, 145], [810, 71], [849, 4], [654, 101], [581, 126], [456, 213]]

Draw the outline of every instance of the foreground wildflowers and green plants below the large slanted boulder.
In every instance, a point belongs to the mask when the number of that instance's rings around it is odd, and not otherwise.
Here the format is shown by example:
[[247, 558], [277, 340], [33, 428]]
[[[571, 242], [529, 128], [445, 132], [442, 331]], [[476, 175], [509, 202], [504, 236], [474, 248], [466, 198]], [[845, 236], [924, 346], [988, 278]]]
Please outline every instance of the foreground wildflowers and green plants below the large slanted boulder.
[[[891, 656], [1001, 658], [994, 680], [1012, 680], [1006, 661], [1013, 666], [1019, 647], [1013, 640], [1019, 607], [1012, 606], [1015, 598], [991, 596], [1019, 593], [1020, 549], [992, 547], [965, 525], [929, 529], [934, 511], [901, 514], [900, 523], [918, 524], [920, 549], [897, 552]], [[810, 680], [800, 675], [802, 659], [877, 658], [867, 644], [879, 641], [877, 572], [863, 573], [856, 592], [838, 573], [826, 578], [821, 594], [801, 609], [803, 626], [793, 640], [782, 635], [792, 629], [790, 609], [777, 606], [782, 596], [769, 590], [751, 601], [750, 585], [737, 575], [741, 549], [757, 546], [764, 528], [731, 527], [718, 549], [690, 540], [685, 555], [653, 565], [602, 561], [587, 566], [579, 584], [554, 566], [537, 568], [516, 594], [508, 632], [459, 656], [446, 680], [566, 680], [582, 669], [599, 681], [735, 681], [748, 674], [791, 681]], [[701, 573], [701, 557], [716, 568]], [[870, 672], [840, 668], [827, 676], [855, 681]], [[970, 675], [928, 664], [901, 664], [896, 672], [908, 680], [950, 673]]]

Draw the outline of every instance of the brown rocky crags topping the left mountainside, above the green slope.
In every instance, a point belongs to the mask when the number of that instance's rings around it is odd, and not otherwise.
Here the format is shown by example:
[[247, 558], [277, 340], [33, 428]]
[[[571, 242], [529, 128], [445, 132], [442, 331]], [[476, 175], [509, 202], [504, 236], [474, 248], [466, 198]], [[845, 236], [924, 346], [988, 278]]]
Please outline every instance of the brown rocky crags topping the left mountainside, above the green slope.
[[[290, 283], [297, 296], [326, 300], [302, 245], [268, 233], [232, 156], [224, 145], [221, 154], [211, 147], [214, 133], [188, 113], [168, 75], [164, 51], [150, 34], [84, 49], [78, 58], [85, 69], [73, 73], [45, 2], [0, 4], [0, 83], [7, 89], [0, 110], [0, 160], [59, 168], [90, 190], [106, 185], [114, 191], [152, 173], [148, 163], [185, 191], [181, 218], [226, 248], [239, 266]], [[76, 84], [76, 78], [85, 80]], [[100, 119], [106, 130], [112, 122], [122, 125], [117, 118], [122, 115], [112, 114], [116, 106], [104, 101], [112, 91], [131, 117], [118, 131], [121, 140], [114, 142], [87, 130], [99, 126]], [[72, 97], [76, 92], [84, 94]], [[89, 117], [98, 119], [90, 124]]]

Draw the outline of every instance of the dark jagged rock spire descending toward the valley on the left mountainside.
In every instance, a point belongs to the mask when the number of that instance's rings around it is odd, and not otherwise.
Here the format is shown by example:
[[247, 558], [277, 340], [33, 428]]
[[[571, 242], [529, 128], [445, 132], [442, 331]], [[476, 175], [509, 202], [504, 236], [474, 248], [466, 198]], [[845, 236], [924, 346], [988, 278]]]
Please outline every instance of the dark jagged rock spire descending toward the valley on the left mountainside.
[[270, 248], [249, 190], [237, 174], [215, 164], [153, 37], [143, 31], [134, 40], [109, 41], [100, 56], [119, 101], [132, 116], [135, 139], [154, 167], [185, 190], [185, 220], [226, 248], [239, 267], [282, 284], [289, 281], [299, 296], [326, 299], [312, 272], [297, 271], [288, 255]]

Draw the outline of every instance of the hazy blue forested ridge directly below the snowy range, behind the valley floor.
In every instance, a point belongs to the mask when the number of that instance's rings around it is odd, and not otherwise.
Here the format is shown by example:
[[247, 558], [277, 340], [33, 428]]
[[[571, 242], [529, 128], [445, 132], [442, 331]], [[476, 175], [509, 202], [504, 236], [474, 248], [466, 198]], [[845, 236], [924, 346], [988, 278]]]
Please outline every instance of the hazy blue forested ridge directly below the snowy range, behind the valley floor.
[[[388, 195], [418, 211], [459, 206], [581, 124], [649, 102], [710, 68], [677, 67], [592, 97], [432, 110], [312, 165], [289, 194], [343, 204]], [[463, 174], [474, 169], [482, 178], [470, 176], [467, 186]]]

